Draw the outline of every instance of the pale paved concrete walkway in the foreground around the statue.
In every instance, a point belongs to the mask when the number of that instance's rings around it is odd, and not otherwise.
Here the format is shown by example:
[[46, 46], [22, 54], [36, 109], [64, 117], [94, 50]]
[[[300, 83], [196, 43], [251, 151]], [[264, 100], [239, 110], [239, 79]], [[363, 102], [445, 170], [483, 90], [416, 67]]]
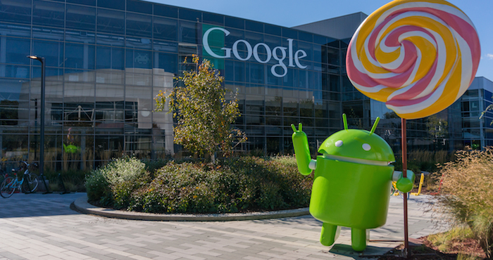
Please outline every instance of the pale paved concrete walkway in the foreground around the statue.
[[[310, 215], [246, 221], [137, 221], [80, 214], [70, 203], [85, 193], [14, 194], [0, 199], [0, 259], [368, 259], [399, 242], [351, 250], [343, 228], [333, 247], [318, 242], [321, 223]], [[423, 213], [428, 197], [411, 196], [410, 238], [443, 231]], [[387, 224], [372, 240], [403, 238], [402, 200], [392, 197]]]

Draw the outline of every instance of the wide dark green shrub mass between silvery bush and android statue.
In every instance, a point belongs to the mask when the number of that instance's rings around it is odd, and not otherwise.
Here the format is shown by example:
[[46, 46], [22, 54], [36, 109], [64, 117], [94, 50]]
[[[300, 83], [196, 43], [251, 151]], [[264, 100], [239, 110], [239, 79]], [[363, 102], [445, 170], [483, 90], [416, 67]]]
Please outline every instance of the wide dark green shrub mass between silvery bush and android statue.
[[128, 209], [154, 213], [220, 213], [307, 207], [312, 178], [294, 157], [240, 157], [219, 164], [170, 162], [130, 198]]

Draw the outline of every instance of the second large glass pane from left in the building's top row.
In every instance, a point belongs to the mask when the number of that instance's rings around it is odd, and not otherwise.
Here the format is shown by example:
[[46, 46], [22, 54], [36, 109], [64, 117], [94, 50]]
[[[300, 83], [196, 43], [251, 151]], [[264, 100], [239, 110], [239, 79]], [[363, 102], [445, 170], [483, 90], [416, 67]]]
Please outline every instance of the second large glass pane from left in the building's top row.
[[32, 24], [51, 27], [63, 27], [65, 4], [35, 0], [32, 11]]

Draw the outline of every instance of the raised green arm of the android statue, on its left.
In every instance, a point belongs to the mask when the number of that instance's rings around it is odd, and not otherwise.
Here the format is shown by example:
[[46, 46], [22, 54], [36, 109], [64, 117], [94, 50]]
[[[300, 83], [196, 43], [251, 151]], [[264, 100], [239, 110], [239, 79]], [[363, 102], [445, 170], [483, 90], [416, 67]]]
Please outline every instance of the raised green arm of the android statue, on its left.
[[[311, 162], [311, 157], [310, 157], [310, 148], [308, 148], [308, 138], [306, 137], [305, 132], [301, 130], [302, 128], [301, 123], [299, 123], [298, 130], [296, 129], [296, 126], [294, 126], [294, 124], [291, 124], [291, 128], [294, 131], [292, 135], [292, 139], [293, 139], [294, 153], [296, 154], [296, 160], [298, 163], [298, 170], [303, 175], [311, 174], [311, 167], [309, 167]], [[314, 165], [312, 163], [312, 167], [313, 166]]]

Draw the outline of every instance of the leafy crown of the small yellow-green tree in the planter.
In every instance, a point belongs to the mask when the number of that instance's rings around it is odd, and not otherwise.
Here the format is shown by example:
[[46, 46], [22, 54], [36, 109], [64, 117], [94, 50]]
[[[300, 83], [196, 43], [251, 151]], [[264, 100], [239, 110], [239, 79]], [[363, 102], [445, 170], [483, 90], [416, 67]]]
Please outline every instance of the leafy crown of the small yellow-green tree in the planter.
[[215, 162], [216, 152], [231, 155], [233, 143], [246, 141], [246, 136], [231, 126], [240, 116], [236, 94], [232, 100], [225, 99], [224, 78], [209, 60], [204, 59], [199, 65], [199, 57], [194, 55], [192, 62], [198, 68], [183, 72], [178, 78], [183, 84], [170, 93], [161, 91], [156, 96], [156, 110], [164, 110], [168, 100], [169, 110], [177, 121], [173, 127], [175, 143], [194, 154], [209, 154]]

